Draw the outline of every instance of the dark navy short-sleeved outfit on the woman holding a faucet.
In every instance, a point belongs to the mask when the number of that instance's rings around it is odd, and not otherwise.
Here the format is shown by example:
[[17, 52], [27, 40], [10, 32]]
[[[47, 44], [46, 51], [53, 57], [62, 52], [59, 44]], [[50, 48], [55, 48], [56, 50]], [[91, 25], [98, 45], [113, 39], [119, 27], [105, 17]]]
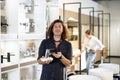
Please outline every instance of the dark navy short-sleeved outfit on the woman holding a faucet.
[[[38, 59], [45, 56], [46, 49], [62, 52], [64, 57], [70, 61], [72, 60], [72, 45], [66, 40], [61, 40], [60, 44], [56, 47], [53, 39], [44, 39], [39, 47]], [[53, 61], [50, 64], [43, 64], [40, 80], [63, 80], [64, 67], [65, 65], [59, 59], [53, 57]]]

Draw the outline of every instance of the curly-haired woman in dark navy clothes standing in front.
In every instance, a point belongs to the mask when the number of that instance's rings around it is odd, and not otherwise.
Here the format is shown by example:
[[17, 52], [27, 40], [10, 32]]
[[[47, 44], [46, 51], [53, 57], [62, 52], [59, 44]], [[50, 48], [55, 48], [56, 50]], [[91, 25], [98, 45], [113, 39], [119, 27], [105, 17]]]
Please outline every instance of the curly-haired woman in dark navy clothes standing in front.
[[[72, 45], [66, 39], [67, 28], [62, 20], [54, 20], [49, 29], [47, 39], [44, 39], [39, 47], [37, 62], [42, 64], [40, 80], [64, 80], [63, 69], [72, 64]], [[42, 61], [46, 49], [50, 49], [52, 59]]]

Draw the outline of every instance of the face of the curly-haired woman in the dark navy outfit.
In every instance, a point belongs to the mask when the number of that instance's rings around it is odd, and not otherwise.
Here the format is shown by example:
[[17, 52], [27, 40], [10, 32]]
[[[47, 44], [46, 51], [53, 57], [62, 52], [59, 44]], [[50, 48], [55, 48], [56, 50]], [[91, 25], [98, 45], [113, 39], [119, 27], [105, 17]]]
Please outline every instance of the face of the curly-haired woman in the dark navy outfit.
[[53, 26], [53, 33], [55, 36], [61, 36], [63, 32], [63, 26], [60, 22], [55, 23]]

